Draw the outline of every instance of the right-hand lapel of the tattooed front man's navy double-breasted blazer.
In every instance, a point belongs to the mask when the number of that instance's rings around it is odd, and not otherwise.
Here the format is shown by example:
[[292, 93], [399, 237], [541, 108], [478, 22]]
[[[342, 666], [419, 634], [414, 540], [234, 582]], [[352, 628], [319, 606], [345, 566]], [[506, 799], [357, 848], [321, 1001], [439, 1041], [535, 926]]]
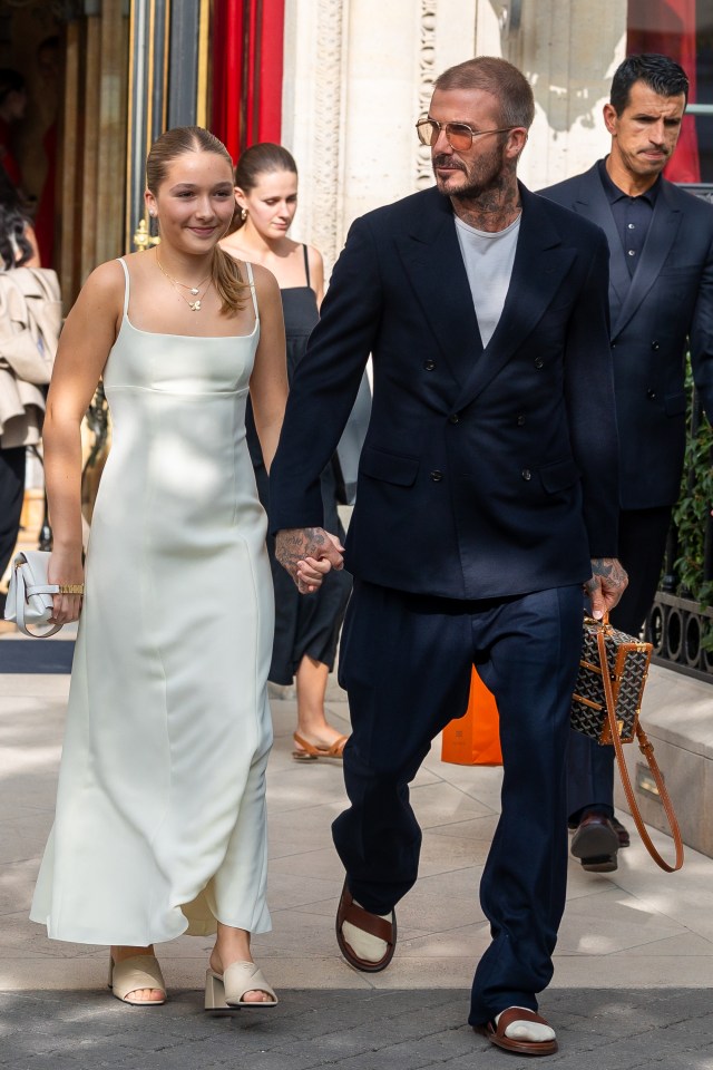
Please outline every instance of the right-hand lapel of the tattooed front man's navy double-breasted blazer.
[[457, 408], [470, 403], [508, 362], [543, 317], [574, 257], [574, 251], [563, 246], [559, 232], [539, 206], [541, 198], [521, 185], [520, 196], [522, 216], [502, 314], [463, 385]]

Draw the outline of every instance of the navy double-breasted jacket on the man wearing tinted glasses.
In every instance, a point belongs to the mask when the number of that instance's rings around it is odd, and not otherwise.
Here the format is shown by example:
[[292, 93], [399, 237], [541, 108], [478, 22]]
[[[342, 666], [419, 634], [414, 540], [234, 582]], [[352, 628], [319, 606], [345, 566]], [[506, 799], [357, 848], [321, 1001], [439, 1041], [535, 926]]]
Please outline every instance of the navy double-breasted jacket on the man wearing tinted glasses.
[[373, 354], [346, 566], [452, 599], [580, 583], [616, 554], [617, 445], [600, 231], [521, 189], [500, 322], [482, 349], [450, 201], [358, 220], [294, 378], [271, 528], [321, 524], [319, 473]]

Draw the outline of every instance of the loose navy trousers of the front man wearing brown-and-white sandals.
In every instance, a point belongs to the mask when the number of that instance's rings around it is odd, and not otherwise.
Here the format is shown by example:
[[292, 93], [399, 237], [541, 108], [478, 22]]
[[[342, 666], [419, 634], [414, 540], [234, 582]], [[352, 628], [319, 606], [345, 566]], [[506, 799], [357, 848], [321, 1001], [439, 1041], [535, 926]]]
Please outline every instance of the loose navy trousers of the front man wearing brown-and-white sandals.
[[351, 806], [332, 826], [349, 888], [388, 914], [416, 882], [421, 831], [409, 781], [433, 737], [468, 704], [471, 665], [500, 712], [500, 820], [480, 883], [492, 943], [472, 985], [472, 1025], [537, 1010], [565, 906], [565, 755], [582, 650], [582, 588], [461, 602], [356, 581], [340, 653], [352, 736]]

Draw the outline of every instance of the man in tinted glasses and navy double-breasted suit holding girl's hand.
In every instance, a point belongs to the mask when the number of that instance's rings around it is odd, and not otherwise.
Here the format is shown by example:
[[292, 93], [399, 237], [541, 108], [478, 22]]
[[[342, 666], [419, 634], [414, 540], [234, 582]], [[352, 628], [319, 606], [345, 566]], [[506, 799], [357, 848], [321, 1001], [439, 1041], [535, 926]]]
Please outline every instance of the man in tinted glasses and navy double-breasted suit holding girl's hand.
[[[599, 615], [616, 560], [617, 445], [604, 235], [517, 181], [533, 93], [502, 59], [446, 71], [418, 123], [436, 187], [358, 220], [290, 396], [271, 471], [277, 557], [302, 590], [341, 565], [319, 473], [373, 354], [371, 420], [346, 539], [354, 591], [340, 679], [353, 732], [336, 930], [384, 969], [417, 878], [409, 782], [468, 703], [500, 711], [502, 813], [480, 885], [492, 943], [469, 1021], [549, 1054], [536, 993], [565, 903], [565, 750], [582, 590]], [[388, 123], [389, 116], [381, 116]], [[326, 577], [329, 582], [329, 576]]]

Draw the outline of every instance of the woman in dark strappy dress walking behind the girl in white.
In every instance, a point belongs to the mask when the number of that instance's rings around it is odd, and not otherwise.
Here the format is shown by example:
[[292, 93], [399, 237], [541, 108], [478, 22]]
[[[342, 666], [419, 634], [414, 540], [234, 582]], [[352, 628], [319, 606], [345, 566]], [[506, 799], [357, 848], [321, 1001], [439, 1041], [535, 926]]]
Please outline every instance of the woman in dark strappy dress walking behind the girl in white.
[[[233, 256], [263, 264], [280, 285], [287, 340], [290, 379], [302, 360], [307, 339], [320, 318], [324, 295], [322, 256], [311, 245], [293, 242], [287, 232], [297, 208], [297, 168], [281, 145], [263, 143], [246, 149], [235, 168], [237, 230], [223, 241]], [[263, 504], [267, 505], [267, 473], [254, 432], [251, 454]], [[320, 477], [322, 503], [330, 531], [344, 536], [338, 514], [340, 471], [331, 458]], [[330, 576], [320, 591], [302, 599], [294, 583], [275, 561], [274, 539], [268, 537], [275, 586], [275, 642], [270, 680], [297, 692], [296, 759], [341, 758], [346, 742], [326, 720], [324, 697], [334, 667], [339, 632], [351, 592], [348, 572]]]

